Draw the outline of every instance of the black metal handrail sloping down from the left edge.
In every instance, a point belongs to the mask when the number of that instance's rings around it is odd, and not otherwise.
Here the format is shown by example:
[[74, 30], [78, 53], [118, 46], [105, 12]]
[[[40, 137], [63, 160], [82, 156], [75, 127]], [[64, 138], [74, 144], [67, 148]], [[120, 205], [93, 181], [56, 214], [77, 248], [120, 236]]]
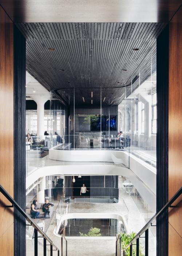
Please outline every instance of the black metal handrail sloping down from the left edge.
[[16, 201], [9, 195], [9, 193], [0, 185], [0, 192], [9, 200], [10, 203], [12, 203], [12, 206], [9, 207], [15, 207], [22, 215], [23, 217], [33, 226], [42, 236], [45, 238], [50, 244], [56, 248], [56, 250], [60, 251], [60, 249], [55, 246], [52, 242], [52, 240], [40, 229], [39, 226], [33, 221], [31, 217], [19, 206], [19, 204], [16, 203]]

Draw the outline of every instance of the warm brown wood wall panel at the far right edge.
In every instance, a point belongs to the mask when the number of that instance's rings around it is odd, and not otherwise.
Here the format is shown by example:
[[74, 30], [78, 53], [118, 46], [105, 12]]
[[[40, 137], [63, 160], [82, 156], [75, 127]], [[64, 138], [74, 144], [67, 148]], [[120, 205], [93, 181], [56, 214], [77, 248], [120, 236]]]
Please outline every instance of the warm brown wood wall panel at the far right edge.
[[[169, 199], [182, 186], [182, 7], [169, 24]], [[182, 237], [182, 196], [169, 212], [169, 255], [178, 255], [174, 244]], [[174, 229], [172, 231], [172, 228]], [[182, 243], [182, 240], [181, 240]], [[171, 253], [171, 254], [170, 254]]]

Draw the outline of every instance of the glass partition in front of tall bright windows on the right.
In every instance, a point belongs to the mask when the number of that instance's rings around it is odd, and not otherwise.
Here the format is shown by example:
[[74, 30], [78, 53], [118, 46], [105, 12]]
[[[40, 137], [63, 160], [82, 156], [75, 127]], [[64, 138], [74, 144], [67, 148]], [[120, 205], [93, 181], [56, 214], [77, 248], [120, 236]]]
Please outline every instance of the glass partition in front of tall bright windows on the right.
[[156, 168], [157, 93], [156, 49], [152, 49], [127, 82], [126, 95], [118, 105], [120, 127], [130, 137], [133, 155]]

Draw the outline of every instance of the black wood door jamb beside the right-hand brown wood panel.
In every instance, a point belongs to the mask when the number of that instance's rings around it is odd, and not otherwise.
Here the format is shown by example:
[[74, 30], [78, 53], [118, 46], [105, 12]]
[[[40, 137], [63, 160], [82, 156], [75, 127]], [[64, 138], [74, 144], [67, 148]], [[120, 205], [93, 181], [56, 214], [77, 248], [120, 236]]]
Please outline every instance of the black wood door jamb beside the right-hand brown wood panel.
[[[157, 39], [157, 212], [168, 201], [169, 26]], [[168, 255], [168, 212], [157, 221], [157, 256]]]

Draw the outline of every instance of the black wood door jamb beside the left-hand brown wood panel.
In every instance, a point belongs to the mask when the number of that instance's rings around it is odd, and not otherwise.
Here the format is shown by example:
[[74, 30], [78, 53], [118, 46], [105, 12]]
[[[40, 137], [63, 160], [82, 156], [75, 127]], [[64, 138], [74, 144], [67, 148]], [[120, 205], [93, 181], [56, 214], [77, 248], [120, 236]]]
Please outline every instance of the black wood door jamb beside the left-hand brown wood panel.
[[[25, 211], [25, 65], [26, 42], [14, 26], [14, 199]], [[14, 209], [14, 256], [26, 255], [25, 218]]]

